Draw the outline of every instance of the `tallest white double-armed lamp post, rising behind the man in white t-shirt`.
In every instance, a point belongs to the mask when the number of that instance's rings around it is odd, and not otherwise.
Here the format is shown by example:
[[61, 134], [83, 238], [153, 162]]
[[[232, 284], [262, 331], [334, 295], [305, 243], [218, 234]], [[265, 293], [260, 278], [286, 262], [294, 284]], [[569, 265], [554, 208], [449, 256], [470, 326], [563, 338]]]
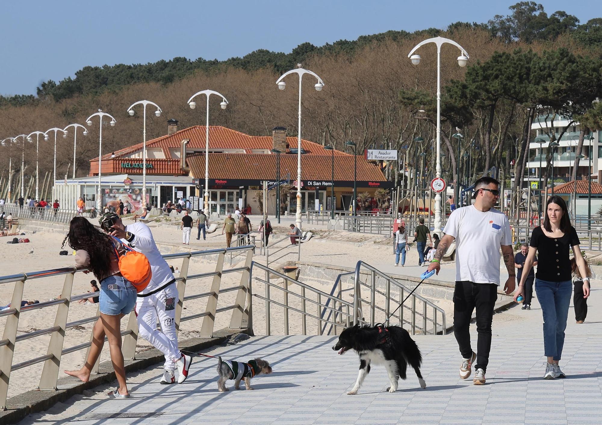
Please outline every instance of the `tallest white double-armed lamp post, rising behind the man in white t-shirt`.
[[[420, 63], [420, 55], [414, 54], [415, 51], [418, 50], [423, 45], [428, 43], [435, 43], [437, 46], [437, 152], [436, 152], [436, 170], [435, 175], [437, 177], [441, 177], [441, 46], [445, 43], [449, 43], [450, 45], [456, 46], [460, 49], [460, 56], [458, 57], [458, 65], [466, 66], [468, 61], [468, 54], [465, 49], [450, 39], [444, 39], [443, 37], [434, 37], [432, 39], [424, 40], [421, 43], [418, 43], [409, 52], [408, 57], [412, 60], [412, 64], [418, 65]], [[437, 193], [435, 195], [435, 230], [436, 234], [441, 234], [441, 193]]]

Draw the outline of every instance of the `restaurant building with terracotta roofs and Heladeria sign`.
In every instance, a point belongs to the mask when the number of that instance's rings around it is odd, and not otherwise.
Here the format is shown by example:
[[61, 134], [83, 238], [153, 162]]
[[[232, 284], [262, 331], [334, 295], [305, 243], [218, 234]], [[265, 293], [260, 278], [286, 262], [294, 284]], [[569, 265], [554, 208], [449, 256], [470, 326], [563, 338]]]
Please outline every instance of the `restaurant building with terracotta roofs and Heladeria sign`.
[[[193, 209], [203, 208], [205, 190], [205, 126], [178, 130], [176, 120], [168, 121], [168, 134], [146, 143], [147, 202], [163, 206], [179, 198], [190, 199]], [[340, 150], [327, 150], [319, 143], [302, 140], [302, 209], [348, 209], [353, 197], [355, 162], [358, 194], [377, 188], [390, 188], [376, 163], [355, 158]], [[281, 154], [273, 154], [277, 149]], [[288, 186], [292, 199], [286, 208], [294, 212], [297, 177], [297, 138], [287, 137], [286, 129], [276, 127], [269, 136], [251, 136], [222, 126], [209, 126], [209, 200], [211, 212], [225, 214], [236, 206], [250, 206], [259, 214], [261, 185], [280, 181]], [[334, 153], [333, 153], [334, 152]], [[104, 155], [101, 161], [102, 205], [111, 200], [130, 200], [141, 205], [143, 144]], [[330, 198], [334, 160], [335, 199]], [[87, 206], [96, 205], [98, 158], [90, 160], [90, 175], [56, 182], [55, 194], [64, 205], [75, 205], [84, 196]], [[275, 211], [275, 192], [268, 193], [268, 214]], [[286, 190], [284, 190], [286, 192]]]

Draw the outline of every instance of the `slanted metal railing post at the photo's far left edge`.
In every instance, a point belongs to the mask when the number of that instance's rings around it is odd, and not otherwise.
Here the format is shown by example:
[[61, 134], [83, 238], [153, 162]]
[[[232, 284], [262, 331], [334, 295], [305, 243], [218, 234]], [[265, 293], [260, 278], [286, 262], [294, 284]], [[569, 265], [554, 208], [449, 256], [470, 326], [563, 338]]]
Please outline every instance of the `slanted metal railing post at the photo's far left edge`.
[[0, 347], [0, 410], [6, 409], [6, 396], [8, 394], [8, 382], [10, 381], [10, 369], [13, 365], [14, 343], [17, 337], [23, 287], [25, 287], [24, 279], [14, 282], [13, 299], [10, 301], [10, 306], [16, 309], [16, 312], [6, 318], [4, 332], [2, 332], [2, 339], [8, 340], [8, 344]]

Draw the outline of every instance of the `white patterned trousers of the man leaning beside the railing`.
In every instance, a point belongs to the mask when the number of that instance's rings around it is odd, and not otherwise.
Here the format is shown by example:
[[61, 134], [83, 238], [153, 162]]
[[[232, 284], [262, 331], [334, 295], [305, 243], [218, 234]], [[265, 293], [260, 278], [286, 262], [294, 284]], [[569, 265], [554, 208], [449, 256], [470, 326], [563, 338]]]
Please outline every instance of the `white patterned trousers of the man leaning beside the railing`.
[[[175, 361], [181, 358], [176, 335], [176, 282], [147, 297], [137, 297], [135, 312], [138, 319], [138, 335], [149, 341], [165, 355], [165, 368], [175, 370]], [[157, 330], [157, 318], [161, 330]]]

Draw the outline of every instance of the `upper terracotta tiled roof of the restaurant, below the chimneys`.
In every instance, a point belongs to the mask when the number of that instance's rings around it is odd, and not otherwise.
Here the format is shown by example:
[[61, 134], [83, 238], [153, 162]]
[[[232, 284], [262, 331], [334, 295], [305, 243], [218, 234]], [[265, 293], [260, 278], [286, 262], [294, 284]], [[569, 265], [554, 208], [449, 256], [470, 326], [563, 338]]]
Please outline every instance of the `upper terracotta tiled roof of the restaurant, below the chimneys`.
[[[163, 148], [163, 153], [166, 159], [172, 158], [170, 149], [179, 149], [180, 143], [185, 138], [190, 139], [187, 149], [205, 149], [205, 126], [195, 125], [180, 131], [176, 131], [172, 135], [164, 135], [146, 142], [147, 149], [151, 147]], [[287, 143], [293, 149], [297, 147], [296, 137], [287, 137]], [[137, 150], [142, 149], [143, 144], [138, 143], [134, 146], [129, 146], [124, 149], [114, 152], [113, 159], [123, 159], [124, 156], [132, 154]], [[244, 149], [245, 152], [251, 153], [251, 149], [272, 149], [272, 136], [251, 136], [222, 126], [209, 126], [209, 147], [211, 149]], [[305, 155], [330, 155], [330, 150], [324, 149], [320, 143], [314, 143], [309, 140], [301, 140], [301, 147], [306, 151]], [[288, 151], [288, 149], [287, 149]], [[335, 150], [335, 155], [349, 155], [340, 150]], [[352, 155], [349, 155], [352, 156]], [[102, 160], [111, 159], [111, 154], [103, 155]], [[98, 161], [93, 158], [91, 161]], [[98, 164], [98, 162], [96, 162]], [[98, 167], [98, 165], [97, 165]]]

